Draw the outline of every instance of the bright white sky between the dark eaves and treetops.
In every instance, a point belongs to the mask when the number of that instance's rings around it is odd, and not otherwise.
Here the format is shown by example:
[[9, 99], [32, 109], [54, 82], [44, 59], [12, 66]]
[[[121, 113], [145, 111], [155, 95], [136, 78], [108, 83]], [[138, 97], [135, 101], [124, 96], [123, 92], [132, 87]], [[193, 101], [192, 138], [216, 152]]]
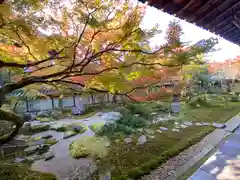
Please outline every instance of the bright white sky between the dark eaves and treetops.
[[[143, 26], [145, 28], [151, 28], [156, 23], [160, 25], [160, 29], [163, 31], [161, 34], [157, 35], [151, 40], [152, 46], [160, 45], [164, 42], [164, 34], [168, 27], [168, 23], [174, 19], [178, 19], [172, 15], [164, 13], [161, 10], [158, 10], [154, 7], [148, 6], [146, 9], [146, 14], [143, 19]], [[180, 20], [180, 19], [178, 19]], [[184, 20], [180, 20], [184, 35], [182, 39], [186, 42], [196, 43], [201, 39], [207, 39], [210, 37], [218, 37], [219, 44], [216, 45], [218, 51], [210, 54], [208, 59], [210, 61], [223, 62], [227, 59], [235, 58], [240, 55], [240, 46], [233, 44], [219, 36], [214, 35], [213, 33], [204, 30], [194, 24], [188, 23]]]

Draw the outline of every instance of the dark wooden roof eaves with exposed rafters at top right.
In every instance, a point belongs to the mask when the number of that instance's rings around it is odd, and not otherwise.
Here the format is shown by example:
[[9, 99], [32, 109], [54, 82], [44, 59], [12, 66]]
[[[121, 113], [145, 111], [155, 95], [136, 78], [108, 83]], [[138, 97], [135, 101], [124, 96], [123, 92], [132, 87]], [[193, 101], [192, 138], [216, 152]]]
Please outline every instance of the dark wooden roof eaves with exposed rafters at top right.
[[139, 0], [240, 45], [240, 0]]

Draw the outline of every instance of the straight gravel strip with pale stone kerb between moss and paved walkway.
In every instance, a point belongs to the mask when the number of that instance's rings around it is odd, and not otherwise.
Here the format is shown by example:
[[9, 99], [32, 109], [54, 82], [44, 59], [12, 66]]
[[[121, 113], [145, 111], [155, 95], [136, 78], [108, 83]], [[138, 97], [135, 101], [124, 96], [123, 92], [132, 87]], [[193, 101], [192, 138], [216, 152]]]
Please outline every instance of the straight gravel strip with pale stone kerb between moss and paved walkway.
[[224, 129], [216, 129], [200, 142], [169, 159], [165, 164], [145, 175], [141, 180], [176, 180], [207, 155], [240, 125], [240, 114], [232, 117]]

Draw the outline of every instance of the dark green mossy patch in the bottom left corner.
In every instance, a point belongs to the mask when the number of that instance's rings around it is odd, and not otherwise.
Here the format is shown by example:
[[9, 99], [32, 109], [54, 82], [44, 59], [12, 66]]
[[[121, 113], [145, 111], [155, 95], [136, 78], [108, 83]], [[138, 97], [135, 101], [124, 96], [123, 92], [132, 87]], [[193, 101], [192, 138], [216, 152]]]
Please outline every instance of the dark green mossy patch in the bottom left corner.
[[0, 164], [0, 179], [2, 180], [56, 180], [50, 173], [32, 171], [27, 165]]

